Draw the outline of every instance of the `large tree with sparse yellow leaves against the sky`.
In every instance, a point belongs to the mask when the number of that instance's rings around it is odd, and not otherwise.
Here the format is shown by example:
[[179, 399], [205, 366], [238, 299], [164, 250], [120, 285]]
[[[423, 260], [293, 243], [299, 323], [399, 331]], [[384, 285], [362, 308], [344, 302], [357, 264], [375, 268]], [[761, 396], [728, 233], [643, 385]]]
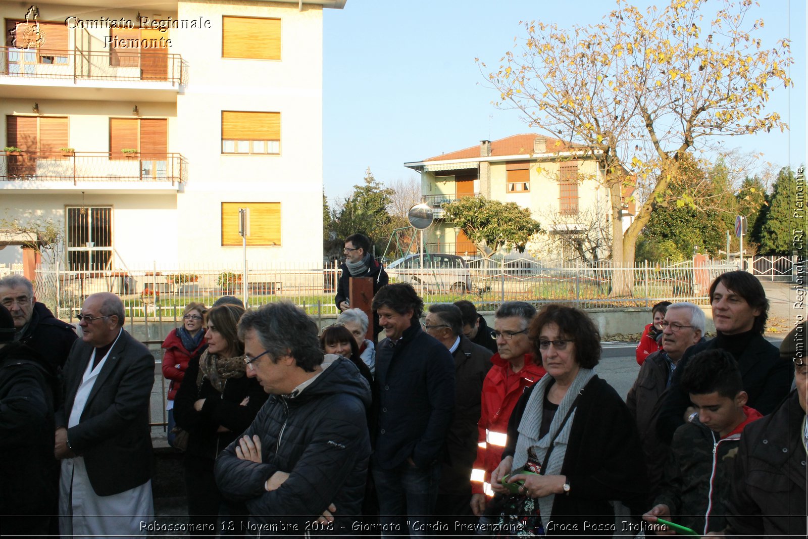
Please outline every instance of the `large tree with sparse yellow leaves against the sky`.
[[[789, 41], [764, 47], [763, 21], [747, 19], [747, 0], [725, 2], [713, 16], [701, 13], [707, 3], [672, 0], [643, 13], [618, 0], [603, 23], [571, 32], [525, 23], [524, 46], [488, 75], [496, 106], [516, 108], [600, 162], [618, 267], [633, 261], [638, 234], [685, 154], [715, 149], [718, 137], [787, 128], [765, 105], [772, 89], [791, 85]], [[635, 178], [646, 198], [623, 234], [621, 187]], [[633, 278], [619, 281], [612, 295], [629, 294]]]

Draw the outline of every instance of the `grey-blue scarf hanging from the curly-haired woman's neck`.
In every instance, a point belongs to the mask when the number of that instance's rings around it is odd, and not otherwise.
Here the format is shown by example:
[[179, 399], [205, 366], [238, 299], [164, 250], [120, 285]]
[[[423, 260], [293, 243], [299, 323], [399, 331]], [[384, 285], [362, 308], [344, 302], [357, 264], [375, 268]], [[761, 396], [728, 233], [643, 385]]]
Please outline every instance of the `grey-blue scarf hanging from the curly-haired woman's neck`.
[[[553, 416], [553, 422], [550, 423], [549, 432], [539, 438], [539, 429], [541, 428], [541, 415], [544, 413], [545, 393], [549, 390], [550, 384], [554, 381], [553, 377], [545, 375], [536, 384], [536, 389], [533, 390], [527, 405], [524, 407], [524, 414], [519, 423], [519, 438], [516, 440], [516, 451], [513, 456], [513, 466], [511, 470], [520, 470], [528, 461], [528, 449], [532, 448], [533, 453], [536, 454], [538, 464], [545, 461], [545, 456], [550, 448], [550, 443], [553, 442], [553, 449], [550, 451], [549, 460], [545, 470], [541, 470], [542, 475], [559, 475], [561, 468], [564, 464], [564, 457], [566, 456], [567, 443], [570, 440], [570, 431], [572, 430], [572, 423], [575, 419], [575, 411], [572, 411], [569, 419], [562, 426], [562, 421], [570, 411], [572, 403], [575, 398], [583, 390], [584, 386], [595, 376], [595, 372], [591, 368], [581, 368], [578, 375], [570, 384], [570, 388], [566, 390], [566, 395], [562, 398], [561, 403], [558, 405], [558, 410]], [[560, 432], [559, 432], [559, 429]], [[558, 436], [556, 436], [558, 433]], [[545, 524], [545, 529], [552, 516], [553, 502], [555, 495], [544, 496], [537, 499], [539, 510], [541, 512], [541, 521]]]

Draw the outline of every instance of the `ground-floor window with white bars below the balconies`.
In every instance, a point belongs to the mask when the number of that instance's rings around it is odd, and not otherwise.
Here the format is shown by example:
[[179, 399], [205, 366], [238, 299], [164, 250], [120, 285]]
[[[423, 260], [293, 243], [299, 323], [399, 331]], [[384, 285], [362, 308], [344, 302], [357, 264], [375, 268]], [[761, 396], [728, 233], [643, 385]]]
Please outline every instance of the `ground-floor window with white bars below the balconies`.
[[68, 271], [109, 269], [112, 262], [112, 208], [68, 207], [65, 212]]

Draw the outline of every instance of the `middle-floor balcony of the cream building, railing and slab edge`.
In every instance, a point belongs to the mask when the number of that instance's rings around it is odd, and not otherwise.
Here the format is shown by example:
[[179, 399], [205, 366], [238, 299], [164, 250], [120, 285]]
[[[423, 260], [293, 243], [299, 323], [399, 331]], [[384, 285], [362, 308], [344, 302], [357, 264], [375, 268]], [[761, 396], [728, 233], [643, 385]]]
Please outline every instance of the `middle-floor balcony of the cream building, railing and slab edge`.
[[108, 152], [3, 152], [4, 192], [177, 192], [187, 182], [181, 154], [112, 156]]

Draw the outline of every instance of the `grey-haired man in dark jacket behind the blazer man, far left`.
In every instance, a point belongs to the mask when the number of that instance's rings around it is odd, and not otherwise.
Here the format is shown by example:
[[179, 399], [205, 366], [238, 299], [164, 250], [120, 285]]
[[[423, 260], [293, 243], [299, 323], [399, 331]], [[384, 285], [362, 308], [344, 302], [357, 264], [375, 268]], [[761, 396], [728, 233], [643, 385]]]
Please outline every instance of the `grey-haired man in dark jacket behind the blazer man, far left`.
[[56, 368], [65, 364], [70, 347], [78, 339], [73, 326], [54, 318], [44, 303], [36, 301], [34, 285], [20, 275], [0, 279], [0, 305], [14, 318], [14, 340], [32, 347]]

